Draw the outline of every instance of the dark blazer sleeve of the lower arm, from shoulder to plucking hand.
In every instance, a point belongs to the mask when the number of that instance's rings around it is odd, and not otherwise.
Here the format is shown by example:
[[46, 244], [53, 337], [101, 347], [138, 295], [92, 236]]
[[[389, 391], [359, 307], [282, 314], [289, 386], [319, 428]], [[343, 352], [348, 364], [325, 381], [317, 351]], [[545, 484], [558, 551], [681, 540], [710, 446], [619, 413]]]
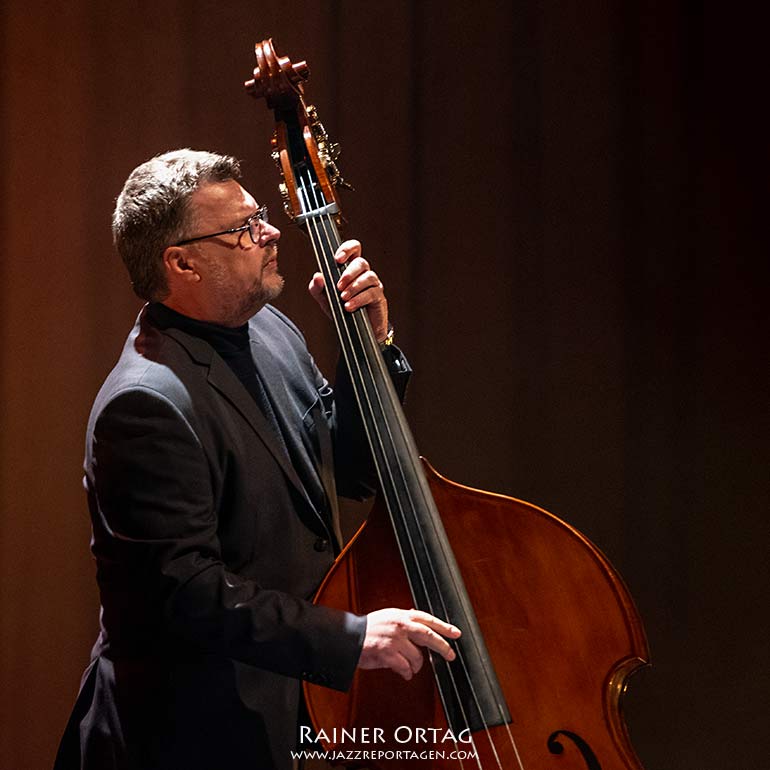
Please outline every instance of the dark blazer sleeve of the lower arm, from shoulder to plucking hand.
[[227, 570], [208, 461], [166, 396], [136, 387], [102, 409], [86, 486], [105, 627], [155, 627], [166, 643], [349, 687], [366, 619]]

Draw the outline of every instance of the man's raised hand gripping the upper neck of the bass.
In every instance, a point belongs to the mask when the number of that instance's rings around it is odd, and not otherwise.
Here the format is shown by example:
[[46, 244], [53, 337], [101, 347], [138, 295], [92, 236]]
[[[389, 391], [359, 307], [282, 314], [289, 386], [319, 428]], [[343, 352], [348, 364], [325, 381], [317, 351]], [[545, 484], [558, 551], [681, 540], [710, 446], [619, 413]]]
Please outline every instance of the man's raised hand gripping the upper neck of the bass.
[[[337, 264], [345, 265], [345, 270], [337, 282], [337, 291], [345, 310], [352, 313], [360, 307], [365, 307], [377, 342], [383, 342], [388, 336], [388, 301], [385, 299], [382, 281], [361, 256], [361, 243], [345, 241], [337, 249], [334, 259]], [[321, 273], [313, 276], [308, 291], [330, 316], [329, 301]]]

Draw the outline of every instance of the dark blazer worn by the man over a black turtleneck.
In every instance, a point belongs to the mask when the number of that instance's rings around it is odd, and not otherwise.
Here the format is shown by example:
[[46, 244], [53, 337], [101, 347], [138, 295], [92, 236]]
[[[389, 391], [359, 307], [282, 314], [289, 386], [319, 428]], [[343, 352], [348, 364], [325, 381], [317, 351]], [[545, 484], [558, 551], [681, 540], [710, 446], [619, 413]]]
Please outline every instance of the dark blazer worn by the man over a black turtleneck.
[[[372, 492], [370, 453], [344, 374], [332, 394], [270, 306], [249, 334], [326, 502], [213, 348], [141, 313], [88, 423], [102, 631], [59, 770], [288, 768], [300, 680], [350, 685], [365, 618], [309, 599], [334, 559], [337, 494]], [[389, 365], [403, 392], [408, 365], [397, 351]]]

